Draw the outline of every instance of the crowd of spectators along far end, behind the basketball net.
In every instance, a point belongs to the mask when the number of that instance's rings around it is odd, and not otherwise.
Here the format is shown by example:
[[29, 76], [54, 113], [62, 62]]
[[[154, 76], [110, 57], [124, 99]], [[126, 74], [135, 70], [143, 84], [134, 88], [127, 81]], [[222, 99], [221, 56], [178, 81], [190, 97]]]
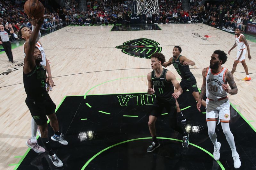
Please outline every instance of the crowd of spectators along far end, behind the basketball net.
[[[140, 15], [140, 18], [149, 23], [204, 22], [217, 26], [221, 11], [221, 15], [224, 16], [220, 24], [223, 23], [223, 26], [230, 29], [238, 26], [242, 31], [245, 31], [247, 22], [255, 22], [256, 19], [255, 0], [227, 0], [220, 4], [206, 5], [203, 0], [188, 0], [188, 3], [189, 9], [183, 10], [180, 0], [159, 0], [159, 15], [147, 13]], [[75, 0], [70, 1], [69, 4], [78, 5]], [[87, 11], [64, 12], [68, 24], [107, 25], [129, 22], [132, 15], [132, 0], [87, 0]]]

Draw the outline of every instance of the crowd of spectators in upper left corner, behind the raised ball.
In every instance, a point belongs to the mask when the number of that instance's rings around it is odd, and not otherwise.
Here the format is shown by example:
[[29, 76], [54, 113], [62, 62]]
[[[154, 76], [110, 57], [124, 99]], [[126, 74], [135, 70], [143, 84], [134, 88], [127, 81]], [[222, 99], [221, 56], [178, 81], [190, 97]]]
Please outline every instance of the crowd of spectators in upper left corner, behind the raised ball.
[[[25, 2], [25, 0], [0, 0], [0, 24], [5, 27], [5, 30], [11, 30], [9, 23], [12, 24], [14, 33], [9, 34], [11, 42], [20, 40], [20, 38], [18, 38], [20, 27], [27, 26], [32, 28], [30, 18], [24, 13], [23, 6]], [[44, 1], [41, 2], [44, 3]], [[51, 9], [51, 11], [48, 8], [45, 9], [46, 16], [44, 24], [42, 25], [42, 30], [50, 30], [57, 25], [60, 25], [62, 19], [59, 14], [53, 9]]]

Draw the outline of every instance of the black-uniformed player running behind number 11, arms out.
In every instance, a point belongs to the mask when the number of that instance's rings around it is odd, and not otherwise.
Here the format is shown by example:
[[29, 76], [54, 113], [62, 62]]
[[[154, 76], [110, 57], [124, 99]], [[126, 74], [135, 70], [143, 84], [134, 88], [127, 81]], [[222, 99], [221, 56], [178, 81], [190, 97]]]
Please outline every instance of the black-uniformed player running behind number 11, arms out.
[[[192, 95], [194, 96], [195, 100], [199, 100], [199, 91], [196, 85], [196, 78], [189, 70], [189, 65], [196, 65], [195, 62], [192, 60], [189, 60], [187, 57], [180, 55], [181, 48], [179, 46], [175, 46], [172, 50], [172, 56], [168, 62], [163, 63], [164, 67], [167, 67], [171, 64], [173, 64], [174, 68], [178, 72], [178, 74], [181, 77], [180, 86], [183, 90], [183, 92], [186, 92], [187, 89], [192, 92]], [[177, 121], [183, 121], [185, 119], [185, 116], [180, 111], [180, 106], [178, 102], [176, 102], [177, 105], [177, 113], [178, 118]], [[204, 100], [202, 100], [202, 105], [205, 107], [206, 103]], [[200, 111], [200, 110], [199, 110]]]

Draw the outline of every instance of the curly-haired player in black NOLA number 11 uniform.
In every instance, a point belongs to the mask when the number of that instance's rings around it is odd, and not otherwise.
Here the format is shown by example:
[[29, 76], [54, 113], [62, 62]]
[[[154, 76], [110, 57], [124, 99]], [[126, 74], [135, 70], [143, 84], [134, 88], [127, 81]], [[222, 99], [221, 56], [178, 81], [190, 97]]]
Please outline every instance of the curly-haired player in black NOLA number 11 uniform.
[[[176, 121], [176, 100], [182, 93], [179, 82], [176, 80], [174, 74], [162, 68], [162, 63], [165, 62], [165, 56], [162, 53], [154, 53], [151, 56], [152, 72], [148, 73], [148, 94], [156, 95], [152, 111], [149, 115], [148, 127], [153, 138], [153, 143], [148, 147], [147, 152], [153, 152], [160, 146], [156, 139], [156, 119], [162, 114], [163, 109], [167, 110], [170, 116], [170, 123], [172, 129], [176, 129], [183, 136], [183, 147], [188, 147], [188, 133], [184, 126], [180, 127]], [[174, 92], [174, 87], [177, 92]]]

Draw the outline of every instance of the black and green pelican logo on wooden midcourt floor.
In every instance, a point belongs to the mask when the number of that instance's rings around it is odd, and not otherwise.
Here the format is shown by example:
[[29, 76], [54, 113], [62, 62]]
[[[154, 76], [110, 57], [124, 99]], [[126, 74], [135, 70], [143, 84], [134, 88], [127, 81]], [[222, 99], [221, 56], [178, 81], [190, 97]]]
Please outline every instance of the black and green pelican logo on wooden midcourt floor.
[[150, 59], [154, 53], [160, 53], [162, 47], [159, 43], [147, 38], [139, 38], [135, 40], [126, 41], [123, 45], [116, 46], [117, 49], [122, 49], [122, 52], [134, 57]]

